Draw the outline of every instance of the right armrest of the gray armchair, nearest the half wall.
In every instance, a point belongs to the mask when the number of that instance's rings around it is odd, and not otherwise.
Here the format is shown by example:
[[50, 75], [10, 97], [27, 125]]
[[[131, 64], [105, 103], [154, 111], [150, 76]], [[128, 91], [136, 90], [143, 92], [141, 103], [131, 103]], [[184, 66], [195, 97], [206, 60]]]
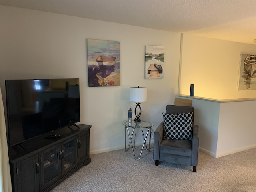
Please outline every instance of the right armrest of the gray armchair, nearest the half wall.
[[199, 126], [194, 125], [192, 138], [192, 166], [197, 166], [199, 151]]

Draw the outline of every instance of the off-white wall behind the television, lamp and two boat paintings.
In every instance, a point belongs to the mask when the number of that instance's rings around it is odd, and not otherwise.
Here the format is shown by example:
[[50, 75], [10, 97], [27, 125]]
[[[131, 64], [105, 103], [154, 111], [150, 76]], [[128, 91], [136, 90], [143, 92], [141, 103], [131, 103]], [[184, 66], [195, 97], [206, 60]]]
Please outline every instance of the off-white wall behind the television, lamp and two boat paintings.
[[[90, 124], [90, 153], [124, 148], [122, 120], [130, 86], [148, 88], [143, 120], [156, 129], [178, 90], [180, 34], [74, 16], [0, 6], [0, 84], [5, 79], [80, 78], [81, 124]], [[86, 39], [120, 41], [121, 86], [88, 87]], [[164, 78], [144, 79], [145, 45], [165, 47]], [[3, 98], [5, 95], [3, 95]]]

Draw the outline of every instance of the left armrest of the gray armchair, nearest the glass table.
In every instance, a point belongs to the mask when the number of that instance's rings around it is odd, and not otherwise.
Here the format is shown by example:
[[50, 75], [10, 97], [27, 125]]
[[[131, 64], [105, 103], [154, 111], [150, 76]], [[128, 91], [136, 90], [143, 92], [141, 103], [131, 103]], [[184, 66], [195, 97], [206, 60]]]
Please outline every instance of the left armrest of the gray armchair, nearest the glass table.
[[159, 160], [159, 147], [160, 147], [160, 143], [163, 140], [163, 135], [164, 135], [164, 122], [161, 122], [154, 132], [154, 152], [153, 152], [154, 160]]

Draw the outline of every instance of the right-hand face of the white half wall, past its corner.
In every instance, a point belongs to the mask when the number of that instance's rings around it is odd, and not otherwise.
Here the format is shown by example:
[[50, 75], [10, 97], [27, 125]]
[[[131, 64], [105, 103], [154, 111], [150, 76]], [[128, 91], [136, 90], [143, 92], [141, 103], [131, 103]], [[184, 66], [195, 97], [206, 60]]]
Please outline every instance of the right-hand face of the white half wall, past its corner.
[[256, 147], [256, 100], [220, 104], [217, 157]]

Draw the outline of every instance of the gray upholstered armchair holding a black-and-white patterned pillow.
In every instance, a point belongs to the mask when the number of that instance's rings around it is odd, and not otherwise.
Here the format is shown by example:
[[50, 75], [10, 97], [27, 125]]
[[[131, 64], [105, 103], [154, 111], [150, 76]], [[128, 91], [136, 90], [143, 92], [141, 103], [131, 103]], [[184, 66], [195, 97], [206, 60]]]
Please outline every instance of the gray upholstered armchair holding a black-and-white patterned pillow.
[[[178, 130], [180, 130], [180, 128], [178, 128], [176, 131], [167, 130], [166, 132], [166, 128], [164, 128], [164, 126], [166, 127], [166, 122], [167, 122], [167, 128], [173, 127], [173, 124], [171, 123], [168, 124], [170, 118], [174, 117], [174, 115], [170, 117], [170, 114], [178, 114], [178, 115], [188, 114], [188, 118], [190, 118], [189, 121], [190, 121], [190, 127], [191, 127], [190, 138], [180, 139], [178, 135], [175, 135], [175, 133], [174, 135], [172, 135], [173, 132], [179, 133]], [[163, 113], [163, 115], [164, 115], [164, 121], [161, 122], [161, 124], [158, 126], [158, 128], [154, 132], [153, 158], [155, 160], [156, 166], [158, 166], [159, 161], [184, 164], [184, 165], [193, 166], [193, 172], [196, 172], [196, 166], [198, 163], [198, 148], [199, 148], [199, 126], [193, 124], [194, 107], [167, 105], [166, 113], [165, 114]], [[180, 119], [184, 120], [184, 117], [181, 117]], [[176, 125], [174, 126], [177, 126], [177, 122], [176, 122]], [[168, 134], [172, 135], [172, 137], [174, 138], [167, 139], [166, 135], [168, 136]], [[186, 135], [186, 133], [185, 134], [182, 133], [182, 134]]]

